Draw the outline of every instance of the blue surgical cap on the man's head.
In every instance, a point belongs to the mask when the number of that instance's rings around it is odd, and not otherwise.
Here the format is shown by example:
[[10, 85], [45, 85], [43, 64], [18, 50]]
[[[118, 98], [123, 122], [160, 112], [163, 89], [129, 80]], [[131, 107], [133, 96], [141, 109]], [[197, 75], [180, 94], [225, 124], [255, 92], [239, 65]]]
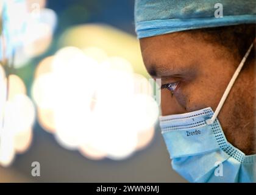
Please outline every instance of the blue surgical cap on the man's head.
[[[215, 17], [222, 5], [222, 17]], [[219, 12], [220, 13], [220, 12]], [[138, 38], [190, 29], [256, 23], [255, 0], [135, 0]]]

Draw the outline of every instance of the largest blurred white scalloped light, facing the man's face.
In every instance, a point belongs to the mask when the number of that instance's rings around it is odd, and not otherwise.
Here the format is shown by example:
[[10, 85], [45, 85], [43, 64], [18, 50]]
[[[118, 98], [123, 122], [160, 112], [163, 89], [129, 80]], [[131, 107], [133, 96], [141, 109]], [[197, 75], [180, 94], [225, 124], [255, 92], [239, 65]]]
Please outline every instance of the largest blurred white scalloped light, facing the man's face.
[[38, 65], [32, 97], [38, 121], [61, 146], [94, 160], [120, 160], [154, 137], [158, 104], [151, 91], [123, 57], [68, 46]]

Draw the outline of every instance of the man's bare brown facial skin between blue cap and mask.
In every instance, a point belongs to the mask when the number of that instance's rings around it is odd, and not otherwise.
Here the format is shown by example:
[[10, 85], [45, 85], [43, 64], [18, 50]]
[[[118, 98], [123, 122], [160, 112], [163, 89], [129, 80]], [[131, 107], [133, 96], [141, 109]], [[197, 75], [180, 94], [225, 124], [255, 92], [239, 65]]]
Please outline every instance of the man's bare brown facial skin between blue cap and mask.
[[[215, 111], [242, 57], [200, 31], [189, 30], [141, 38], [149, 74], [162, 84], [179, 82], [171, 93], [161, 90], [162, 115]], [[255, 154], [255, 46], [218, 115], [227, 140], [246, 155]]]

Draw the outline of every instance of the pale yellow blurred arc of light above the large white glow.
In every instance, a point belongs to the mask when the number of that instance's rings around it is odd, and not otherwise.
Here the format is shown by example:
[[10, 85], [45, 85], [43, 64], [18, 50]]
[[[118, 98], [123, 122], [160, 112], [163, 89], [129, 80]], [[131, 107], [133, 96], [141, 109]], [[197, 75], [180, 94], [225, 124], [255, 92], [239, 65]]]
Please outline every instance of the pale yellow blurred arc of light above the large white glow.
[[102, 49], [108, 56], [128, 60], [135, 73], [149, 77], [143, 65], [137, 38], [107, 24], [84, 24], [69, 28], [60, 37], [59, 46], [75, 46], [82, 50]]

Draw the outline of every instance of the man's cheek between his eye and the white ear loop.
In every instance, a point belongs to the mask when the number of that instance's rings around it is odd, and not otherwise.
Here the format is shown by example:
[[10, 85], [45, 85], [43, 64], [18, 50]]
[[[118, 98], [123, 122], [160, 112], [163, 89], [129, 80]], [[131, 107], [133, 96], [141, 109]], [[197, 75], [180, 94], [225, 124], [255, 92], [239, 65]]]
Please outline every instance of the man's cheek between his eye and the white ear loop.
[[216, 109], [235, 72], [235, 68], [229, 63], [206, 63], [207, 68], [201, 67], [199, 74], [177, 91], [177, 101], [186, 107], [187, 112], [205, 107]]

